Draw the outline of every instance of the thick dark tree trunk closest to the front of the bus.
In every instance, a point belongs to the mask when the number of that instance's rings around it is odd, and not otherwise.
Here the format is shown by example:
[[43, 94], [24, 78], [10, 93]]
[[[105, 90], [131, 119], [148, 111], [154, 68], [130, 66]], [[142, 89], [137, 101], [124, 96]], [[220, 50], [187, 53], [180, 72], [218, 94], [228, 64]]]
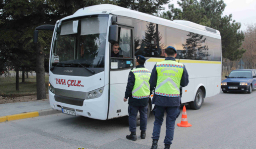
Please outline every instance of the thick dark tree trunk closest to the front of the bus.
[[36, 45], [36, 59], [37, 59], [37, 100], [46, 99], [45, 87], [45, 53], [44, 48], [38, 44]]

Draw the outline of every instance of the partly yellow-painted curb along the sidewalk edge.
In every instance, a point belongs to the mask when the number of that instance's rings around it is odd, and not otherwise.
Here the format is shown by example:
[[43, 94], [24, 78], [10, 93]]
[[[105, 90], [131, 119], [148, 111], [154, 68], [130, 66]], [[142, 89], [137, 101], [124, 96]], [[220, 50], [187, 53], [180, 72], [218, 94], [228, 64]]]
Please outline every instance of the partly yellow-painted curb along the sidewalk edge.
[[61, 111], [53, 110], [53, 109], [46, 109], [46, 110], [40, 110], [40, 111], [35, 111], [35, 112], [25, 112], [25, 113], [21, 113], [21, 114], [14, 114], [14, 115], [0, 117], [0, 123], [6, 122], [6, 121], [34, 118], [34, 117], [38, 117], [38, 116], [52, 115], [52, 114], [57, 114], [57, 113], [61, 113]]

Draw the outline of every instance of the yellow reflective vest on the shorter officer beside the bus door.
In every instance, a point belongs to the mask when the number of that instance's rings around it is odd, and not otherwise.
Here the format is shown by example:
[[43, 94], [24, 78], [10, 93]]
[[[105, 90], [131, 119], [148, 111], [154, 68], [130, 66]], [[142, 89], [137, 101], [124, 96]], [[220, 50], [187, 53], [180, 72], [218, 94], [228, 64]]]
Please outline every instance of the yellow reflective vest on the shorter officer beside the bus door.
[[147, 98], [150, 94], [150, 85], [149, 85], [149, 78], [150, 78], [150, 71], [146, 68], [137, 68], [131, 70], [135, 76], [135, 83], [132, 90], [132, 97], [141, 99]]

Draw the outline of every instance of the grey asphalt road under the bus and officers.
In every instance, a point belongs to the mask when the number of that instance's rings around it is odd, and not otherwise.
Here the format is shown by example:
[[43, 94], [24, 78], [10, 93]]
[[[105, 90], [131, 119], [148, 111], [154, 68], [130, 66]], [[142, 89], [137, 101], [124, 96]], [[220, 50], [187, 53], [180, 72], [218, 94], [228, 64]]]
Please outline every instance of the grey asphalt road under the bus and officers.
[[[187, 108], [192, 127], [175, 127], [171, 149], [255, 149], [256, 90], [220, 93], [206, 98], [200, 110]], [[182, 110], [182, 109], [181, 109]], [[148, 120], [146, 139], [125, 138], [124, 119], [93, 120], [55, 114], [0, 123], [0, 149], [150, 149], [154, 116]], [[176, 124], [181, 122], [181, 115]], [[165, 122], [159, 140], [164, 148]]]

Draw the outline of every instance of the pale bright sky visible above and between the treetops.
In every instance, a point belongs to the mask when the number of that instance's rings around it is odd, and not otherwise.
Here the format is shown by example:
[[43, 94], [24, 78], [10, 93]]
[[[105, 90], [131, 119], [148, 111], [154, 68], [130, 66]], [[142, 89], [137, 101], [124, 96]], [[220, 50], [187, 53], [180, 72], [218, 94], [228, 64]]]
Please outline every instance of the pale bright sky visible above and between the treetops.
[[[174, 4], [179, 8], [178, 0], [172, 0], [169, 4]], [[223, 0], [227, 5], [223, 16], [232, 14], [232, 19], [241, 23], [240, 30], [245, 31], [247, 24], [256, 24], [256, 0]], [[168, 5], [164, 5], [165, 11], [168, 11]]]

